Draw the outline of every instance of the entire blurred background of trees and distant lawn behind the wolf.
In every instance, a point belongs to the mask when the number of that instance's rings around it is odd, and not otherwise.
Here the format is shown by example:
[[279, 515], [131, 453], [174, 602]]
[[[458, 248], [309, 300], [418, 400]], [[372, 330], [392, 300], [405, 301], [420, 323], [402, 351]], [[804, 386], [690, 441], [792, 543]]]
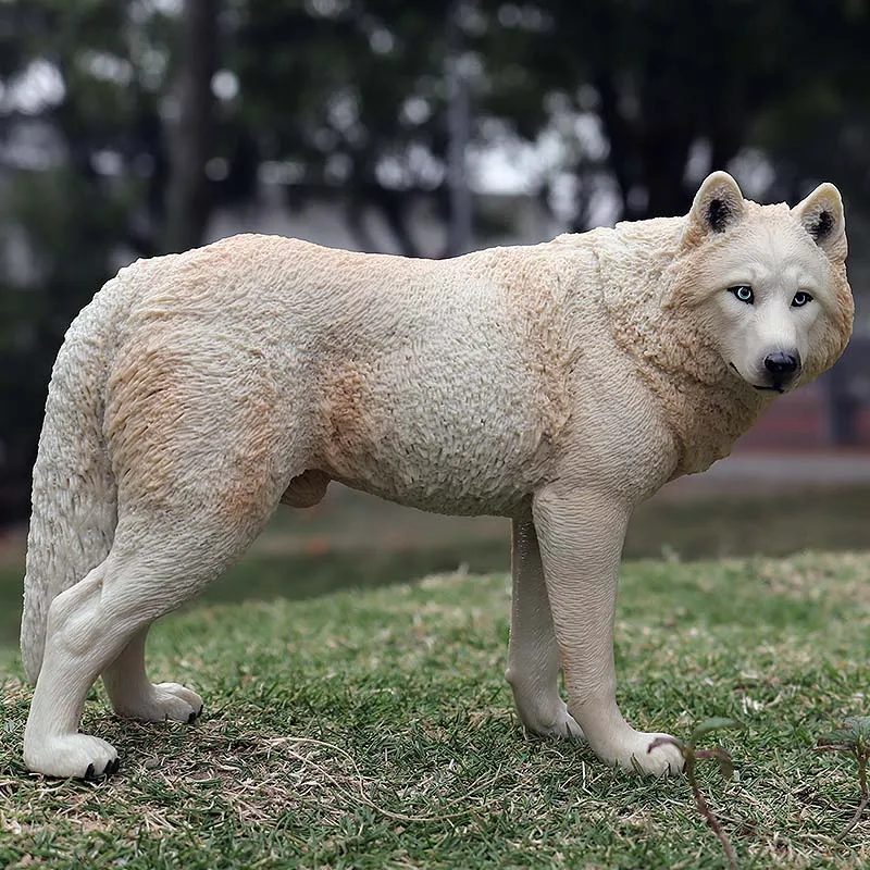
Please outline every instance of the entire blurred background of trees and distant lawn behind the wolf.
[[[855, 338], [626, 555], [862, 548], [870, 531], [870, 2], [0, 0], [0, 643], [51, 364], [117, 269], [238, 232], [452, 257], [745, 194], [844, 195]], [[210, 593], [507, 567], [504, 520], [333, 485]]]

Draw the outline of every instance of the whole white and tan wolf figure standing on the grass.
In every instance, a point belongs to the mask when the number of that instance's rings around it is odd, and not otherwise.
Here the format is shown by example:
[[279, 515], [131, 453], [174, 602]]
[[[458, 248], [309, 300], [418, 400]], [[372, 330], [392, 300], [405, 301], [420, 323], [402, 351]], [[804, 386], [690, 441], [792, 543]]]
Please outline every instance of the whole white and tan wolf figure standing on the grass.
[[146, 676], [149, 626], [279, 502], [314, 505], [335, 480], [511, 518], [507, 679], [523, 724], [676, 771], [616, 700], [629, 515], [834, 363], [852, 330], [845, 257], [833, 186], [761, 207], [714, 173], [684, 217], [447, 261], [237, 236], [123, 269], [70, 327], [49, 388], [22, 625], [27, 767], [117, 769], [112, 746], [77, 733], [99, 675], [121, 716], [192, 721], [197, 694]]

